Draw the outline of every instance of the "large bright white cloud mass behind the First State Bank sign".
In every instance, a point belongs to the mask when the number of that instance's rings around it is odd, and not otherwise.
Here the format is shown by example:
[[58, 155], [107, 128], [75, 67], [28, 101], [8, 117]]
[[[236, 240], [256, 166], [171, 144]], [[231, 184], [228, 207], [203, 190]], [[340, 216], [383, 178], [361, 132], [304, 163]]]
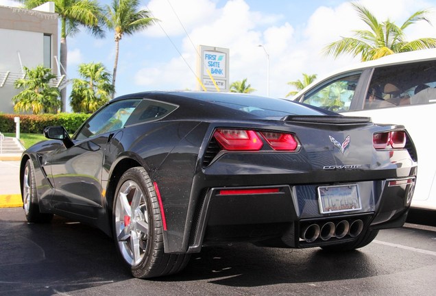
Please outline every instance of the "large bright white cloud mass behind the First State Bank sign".
[[[428, 1], [411, 3], [408, 0], [362, 0], [360, 3], [379, 20], [389, 18], [397, 24], [403, 23], [417, 10], [435, 6], [435, 3]], [[341, 36], [351, 36], [353, 29], [365, 28], [350, 2], [317, 8], [306, 23], [298, 24], [300, 32], [295, 32], [295, 27], [282, 14], [256, 12], [249, 4], [249, 0], [228, 0], [223, 7], [218, 7], [217, 1], [212, 0], [171, 0], [194, 47], [167, 1], [152, 0], [148, 8], [160, 18], [167, 34], [173, 36], [173, 42], [181, 44], [178, 50], [191, 69], [195, 71], [195, 48], [198, 45], [229, 48], [230, 82], [247, 78], [252, 87], [258, 90], [258, 95], [265, 95], [267, 88], [267, 58], [265, 51], [258, 47], [260, 44], [269, 53], [269, 88], [270, 95], [274, 97], [284, 97], [289, 93], [291, 87], [287, 86], [287, 82], [300, 79], [302, 73], [320, 76], [359, 60], [350, 56], [334, 60], [321, 53], [328, 42], [339, 40]], [[431, 15], [431, 19], [436, 25], [435, 14]], [[154, 26], [154, 29], [147, 29], [144, 34], [149, 37], [162, 36], [162, 31]], [[407, 29], [409, 39], [435, 35], [435, 27], [425, 22]], [[175, 36], [182, 36], [183, 40], [175, 39]], [[161, 89], [193, 89], [196, 79], [189, 66], [180, 57], [172, 58], [167, 63], [145, 66], [136, 71], [135, 83]]]

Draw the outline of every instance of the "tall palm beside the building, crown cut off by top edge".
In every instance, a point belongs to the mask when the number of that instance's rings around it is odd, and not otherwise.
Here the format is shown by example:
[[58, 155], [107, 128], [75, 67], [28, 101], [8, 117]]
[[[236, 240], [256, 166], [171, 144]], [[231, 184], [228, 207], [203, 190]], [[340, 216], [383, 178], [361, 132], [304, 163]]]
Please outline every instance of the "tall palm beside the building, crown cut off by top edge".
[[[47, 0], [21, 0], [26, 8], [36, 8]], [[55, 12], [60, 18], [60, 73], [66, 74], [66, 37], [79, 32], [83, 25], [97, 37], [103, 37], [104, 31], [99, 27], [101, 21], [101, 8], [96, 0], [52, 0], [55, 3]], [[66, 111], [66, 89], [61, 91], [62, 112]]]

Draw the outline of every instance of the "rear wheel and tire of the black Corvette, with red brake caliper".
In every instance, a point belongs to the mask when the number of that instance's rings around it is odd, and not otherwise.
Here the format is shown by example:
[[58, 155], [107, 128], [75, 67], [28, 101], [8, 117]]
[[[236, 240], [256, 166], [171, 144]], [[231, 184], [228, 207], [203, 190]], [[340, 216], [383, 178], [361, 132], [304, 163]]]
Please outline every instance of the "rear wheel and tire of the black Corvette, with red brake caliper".
[[158, 199], [143, 167], [121, 176], [112, 216], [117, 251], [134, 277], [170, 275], [188, 264], [189, 254], [165, 254]]

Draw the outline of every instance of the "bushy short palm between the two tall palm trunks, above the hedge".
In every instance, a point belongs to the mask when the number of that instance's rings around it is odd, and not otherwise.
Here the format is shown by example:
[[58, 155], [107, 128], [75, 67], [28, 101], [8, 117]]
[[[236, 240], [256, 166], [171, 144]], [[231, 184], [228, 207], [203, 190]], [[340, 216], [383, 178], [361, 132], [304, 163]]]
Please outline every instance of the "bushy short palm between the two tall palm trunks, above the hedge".
[[110, 73], [101, 63], [79, 65], [79, 74], [84, 79], [73, 79], [70, 106], [73, 112], [93, 113], [107, 103], [114, 91]]

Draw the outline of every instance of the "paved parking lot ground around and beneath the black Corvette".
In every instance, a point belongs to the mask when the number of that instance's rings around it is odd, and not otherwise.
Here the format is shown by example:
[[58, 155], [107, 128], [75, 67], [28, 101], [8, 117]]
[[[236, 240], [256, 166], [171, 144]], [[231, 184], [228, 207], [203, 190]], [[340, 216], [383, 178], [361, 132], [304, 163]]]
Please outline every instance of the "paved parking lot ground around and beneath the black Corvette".
[[[20, 201], [19, 162], [0, 161], [0, 197]], [[204, 247], [186, 269], [138, 280], [103, 232], [61, 217], [25, 221], [0, 208], [0, 295], [433, 295], [436, 227], [382, 230], [344, 254], [250, 244]]]

